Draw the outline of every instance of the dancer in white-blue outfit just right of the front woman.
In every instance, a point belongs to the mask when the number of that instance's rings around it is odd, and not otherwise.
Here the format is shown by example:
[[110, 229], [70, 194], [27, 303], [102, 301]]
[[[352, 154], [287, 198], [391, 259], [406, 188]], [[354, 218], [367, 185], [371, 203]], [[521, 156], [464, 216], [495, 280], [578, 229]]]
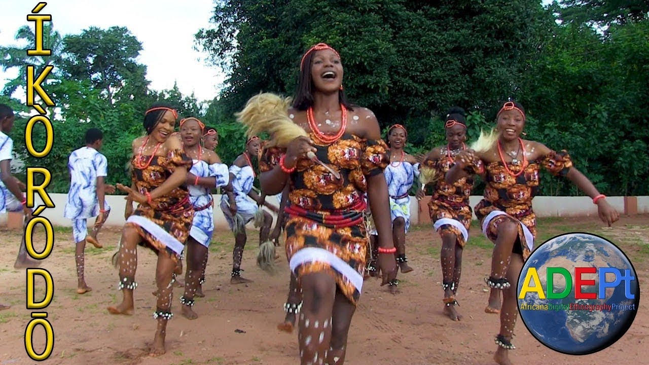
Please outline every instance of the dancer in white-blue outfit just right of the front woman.
[[[419, 163], [404, 152], [408, 132], [402, 125], [395, 124], [387, 131], [387, 145], [390, 147], [390, 164], [384, 170], [387, 190], [390, 195], [390, 216], [392, 239], [397, 247], [397, 264], [402, 273], [413, 270], [406, 257], [406, 233], [410, 229], [410, 195], [408, 190], [419, 176]], [[398, 280], [390, 283], [390, 291], [397, 293]]]

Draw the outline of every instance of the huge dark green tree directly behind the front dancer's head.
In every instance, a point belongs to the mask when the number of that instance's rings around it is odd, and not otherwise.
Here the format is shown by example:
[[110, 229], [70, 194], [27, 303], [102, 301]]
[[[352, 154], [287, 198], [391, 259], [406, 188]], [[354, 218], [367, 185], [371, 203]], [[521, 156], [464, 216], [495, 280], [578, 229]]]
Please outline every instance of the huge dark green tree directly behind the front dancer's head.
[[353, 101], [383, 127], [419, 129], [453, 105], [489, 113], [517, 95], [553, 19], [533, 1], [240, 0], [219, 1], [211, 21], [196, 39], [227, 72], [225, 114], [262, 90], [293, 94], [302, 53], [327, 42]]

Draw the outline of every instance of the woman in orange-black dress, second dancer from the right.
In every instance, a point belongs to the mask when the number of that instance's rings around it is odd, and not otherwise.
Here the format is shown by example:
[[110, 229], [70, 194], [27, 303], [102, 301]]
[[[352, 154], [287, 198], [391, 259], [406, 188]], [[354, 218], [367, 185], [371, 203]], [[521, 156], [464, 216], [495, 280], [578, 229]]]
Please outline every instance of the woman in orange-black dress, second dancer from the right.
[[[469, 227], [473, 211], [469, 206], [469, 196], [474, 183], [474, 175], [467, 175], [448, 184], [444, 177], [455, 164], [455, 158], [463, 151], [467, 140], [467, 122], [464, 110], [452, 108], [445, 121], [447, 144], [435, 147], [428, 153], [422, 166], [433, 169], [437, 179], [434, 181], [434, 192], [428, 203], [430, 220], [433, 228], [442, 239], [441, 266], [442, 288], [444, 290], [444, 312], [454, 321], [462, 316], [456, 310], [455, 296], [458, 292], [459, 277], [462, 268], [462, 251], [469, 240]], [[421, 198], [424, 190], [417, 192]]]

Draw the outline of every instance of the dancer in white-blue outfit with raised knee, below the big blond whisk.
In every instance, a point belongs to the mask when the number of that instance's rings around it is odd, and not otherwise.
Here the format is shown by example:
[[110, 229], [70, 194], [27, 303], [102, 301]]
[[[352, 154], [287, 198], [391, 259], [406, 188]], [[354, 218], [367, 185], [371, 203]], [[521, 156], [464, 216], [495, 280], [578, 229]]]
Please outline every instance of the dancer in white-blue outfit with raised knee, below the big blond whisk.
[[[234, 232], [234, 250], [232, 251], [232, 278], [230, 284], [251, 283], [252, 280], [241, 277], [241, 259], [243, 258], [243, 247], [247, 236], [245, 225], [254, 219], [258, 209], [265, 205], [273, 211], [277, 208], [265, 202], [265, 195], [259, 195], [252, 190], [252, 183], [256, 173], [252, 166], [252, 158], [256, 158], [260, 152], [261, 140], [257, 136], [252, 136], [246, 141], [246, 150], [239, 155], [232, 166], [230, 166], [230, 180], [232, 181], [232, 190], [234, 190], [234, 204], [232, 204], [233, 194], [227, 192], [221, 198], [221, 210], [225, 219]], [[242, 218], [237, 220], [235, 216]], [[263, 224], [259, 231], [259, 244], [263, 244], [268, 239], [273, 224], [273, 216], [268, 212], [263, 212]]]

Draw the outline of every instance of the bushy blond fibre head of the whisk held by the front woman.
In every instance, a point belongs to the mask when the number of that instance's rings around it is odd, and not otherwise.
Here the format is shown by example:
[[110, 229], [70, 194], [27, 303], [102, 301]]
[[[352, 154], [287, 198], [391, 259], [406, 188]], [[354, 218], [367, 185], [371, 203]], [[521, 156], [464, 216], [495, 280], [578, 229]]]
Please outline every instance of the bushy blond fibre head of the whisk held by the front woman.
[[245, 125], [249, 137], [267, 132], [271, 136], [269, 145], [287, 147], [297, 137], [309, 138], [302, 127], [288, 118], [291, 101], [290, 97], [261, 93], [251, 97], [245, 108], [234, 115], [239, 123]]

